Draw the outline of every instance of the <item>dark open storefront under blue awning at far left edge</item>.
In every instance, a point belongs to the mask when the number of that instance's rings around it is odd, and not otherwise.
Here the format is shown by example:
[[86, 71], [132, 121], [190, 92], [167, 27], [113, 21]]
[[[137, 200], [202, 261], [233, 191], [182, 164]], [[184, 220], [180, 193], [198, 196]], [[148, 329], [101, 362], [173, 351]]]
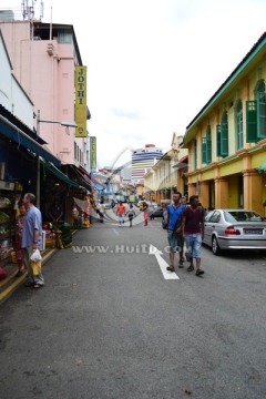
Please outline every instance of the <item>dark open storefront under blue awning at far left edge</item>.
[[0, 105], [0, 264], [9, 262], [14, 246], [18, 204], [24, 193], [35, 193], [37, 157], [60, 165], [44, 143]]

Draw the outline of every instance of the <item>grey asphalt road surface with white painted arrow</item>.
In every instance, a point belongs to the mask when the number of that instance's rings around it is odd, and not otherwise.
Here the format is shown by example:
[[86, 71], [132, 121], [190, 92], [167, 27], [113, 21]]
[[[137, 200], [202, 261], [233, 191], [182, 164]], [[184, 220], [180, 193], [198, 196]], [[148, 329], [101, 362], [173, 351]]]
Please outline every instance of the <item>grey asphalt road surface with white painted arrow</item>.
[[266, 398], [266, 255], [202, 258], [168, 279], [161, 218], [108, 211], [1, 305], [1, 399]]

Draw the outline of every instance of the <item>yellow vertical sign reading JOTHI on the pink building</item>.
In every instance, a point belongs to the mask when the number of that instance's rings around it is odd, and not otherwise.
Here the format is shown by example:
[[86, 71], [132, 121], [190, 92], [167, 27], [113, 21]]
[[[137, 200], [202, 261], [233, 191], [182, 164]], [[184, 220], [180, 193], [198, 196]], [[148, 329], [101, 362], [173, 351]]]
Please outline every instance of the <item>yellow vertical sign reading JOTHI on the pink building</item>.
[[86, 137], [86, 66], [75, 66], [75, 137]]

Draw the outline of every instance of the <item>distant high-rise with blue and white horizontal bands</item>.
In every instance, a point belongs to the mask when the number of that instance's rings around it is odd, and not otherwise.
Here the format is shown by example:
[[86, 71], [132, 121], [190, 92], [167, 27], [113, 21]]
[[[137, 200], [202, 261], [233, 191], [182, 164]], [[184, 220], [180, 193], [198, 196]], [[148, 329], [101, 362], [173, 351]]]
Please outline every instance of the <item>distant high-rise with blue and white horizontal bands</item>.
[[132, 182], [137, 183], [153, 167], [153, 165], [163, 156], [162, 149], [154, 144], [145, 144], [143, 149], [132, 152]]

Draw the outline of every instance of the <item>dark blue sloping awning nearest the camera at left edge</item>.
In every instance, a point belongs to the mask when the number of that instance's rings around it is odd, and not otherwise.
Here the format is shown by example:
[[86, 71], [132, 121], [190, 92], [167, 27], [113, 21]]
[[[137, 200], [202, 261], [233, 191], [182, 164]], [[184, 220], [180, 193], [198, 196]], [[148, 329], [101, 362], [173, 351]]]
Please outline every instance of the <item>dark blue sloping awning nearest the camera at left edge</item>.
[[43, 160], [52, 162], [55, 166], [61, 165], [60, 160], [58, 160], [50, 152], [44, 150], [42, 145], [38, 142], [38, 140], [34, 140], [32, 136], [28, 135], [20, 127], [14, 125], [12, 122], [10, 122], [7, 117], [2, 115], [0, 115], [0, 134], [2, 134], [9, 140], [12, 140], [18, 145], [21, 145], [24, 149], [32, 151], [34, 154], [43, 157]]

